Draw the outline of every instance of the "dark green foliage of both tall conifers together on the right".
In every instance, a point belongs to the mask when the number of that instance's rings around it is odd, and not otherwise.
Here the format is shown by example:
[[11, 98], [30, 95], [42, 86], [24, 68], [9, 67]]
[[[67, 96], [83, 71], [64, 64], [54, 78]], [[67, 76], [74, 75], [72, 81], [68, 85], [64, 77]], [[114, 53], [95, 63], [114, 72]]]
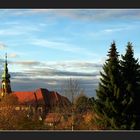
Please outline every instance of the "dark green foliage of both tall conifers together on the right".
[[96, 124], [105, 129], [140, 129], [140, 65], [132, 44], [118, 59], [115, 43], [103, 65], [94, 110]]

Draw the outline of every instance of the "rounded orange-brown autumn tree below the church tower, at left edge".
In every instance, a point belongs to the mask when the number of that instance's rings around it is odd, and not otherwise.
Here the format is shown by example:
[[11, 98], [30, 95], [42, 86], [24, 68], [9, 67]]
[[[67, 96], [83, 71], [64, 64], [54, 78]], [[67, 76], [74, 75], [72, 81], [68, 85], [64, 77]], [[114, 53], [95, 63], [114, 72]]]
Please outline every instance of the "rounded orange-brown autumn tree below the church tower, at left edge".
[[18, 129], [18, 124], [23, 118], [23, 111], [16, 111], [18, 99], [12, 94], [4, 96], [0, 101], [0, 129]]

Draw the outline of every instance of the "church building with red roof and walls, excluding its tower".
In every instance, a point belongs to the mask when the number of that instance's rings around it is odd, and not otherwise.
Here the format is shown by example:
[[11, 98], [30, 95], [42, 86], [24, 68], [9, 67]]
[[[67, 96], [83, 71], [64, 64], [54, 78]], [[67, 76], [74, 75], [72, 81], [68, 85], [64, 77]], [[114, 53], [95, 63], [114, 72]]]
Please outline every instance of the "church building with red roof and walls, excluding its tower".
[[64, 107], [71, 104], [66, 97], [59, 93], [43, 88], [35, 91], [14, 91], [12, 94], [18, 98], [22, 108], [28, 106], [33, 112], [38, 110], [47, 113], [55, 106]]

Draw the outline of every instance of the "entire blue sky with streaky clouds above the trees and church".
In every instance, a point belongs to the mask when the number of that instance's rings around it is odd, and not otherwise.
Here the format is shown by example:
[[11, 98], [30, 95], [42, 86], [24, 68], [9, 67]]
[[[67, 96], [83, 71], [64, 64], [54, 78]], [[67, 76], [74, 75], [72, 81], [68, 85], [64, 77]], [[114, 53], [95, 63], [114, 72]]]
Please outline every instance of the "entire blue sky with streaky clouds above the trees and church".
[[63, 93], [72, 78], [96, 96], [111, 43], [140, 58], [139, 38], [140, 9], [0, 9], [0, 74], [7, 53], [13, 91]]

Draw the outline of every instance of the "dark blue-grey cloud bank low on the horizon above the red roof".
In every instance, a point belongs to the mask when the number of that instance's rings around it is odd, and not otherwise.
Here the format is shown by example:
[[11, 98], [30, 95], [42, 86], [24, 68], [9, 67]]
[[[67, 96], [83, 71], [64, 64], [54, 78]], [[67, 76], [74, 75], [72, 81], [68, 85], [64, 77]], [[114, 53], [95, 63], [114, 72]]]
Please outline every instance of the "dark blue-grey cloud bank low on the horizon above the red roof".
[[[38, 77], [36, 74], [40, 74], [44, 77]], [[59, 72], [57, 70], [44, 70], [42, 71], [28, 71], [28, 72], [11, 72], [11, 85], [13, 91], [31, 91], [38, 88], [47, 88], [49, 90], [55, 90], [63, 94], [63, 86], [72, 78], [77, 80], [81, 89], [85, 91], [87, 96], [96, 96], [95, 89], [97, 89], [99, 79], [98, 73], [84, 74], [84, 73], [71, 73]], [[55, 75], [59, 75], [57, 78]], [[71, 76], [69, 76], [71, 75]], [[74, 77], [72, 77], [72, 75]]]

